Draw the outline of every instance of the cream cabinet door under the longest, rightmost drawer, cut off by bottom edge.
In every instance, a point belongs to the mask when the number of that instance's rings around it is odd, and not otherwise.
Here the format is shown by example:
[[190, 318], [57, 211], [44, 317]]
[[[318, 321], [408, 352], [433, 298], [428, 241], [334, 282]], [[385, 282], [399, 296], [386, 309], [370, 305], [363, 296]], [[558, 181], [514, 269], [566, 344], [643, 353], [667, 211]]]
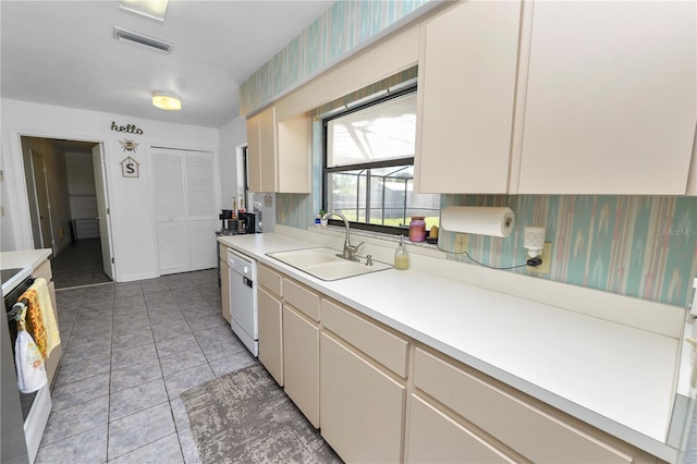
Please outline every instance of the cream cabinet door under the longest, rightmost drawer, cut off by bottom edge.
[[412, 394], [409, 463], [513, 463], [490, 443]]

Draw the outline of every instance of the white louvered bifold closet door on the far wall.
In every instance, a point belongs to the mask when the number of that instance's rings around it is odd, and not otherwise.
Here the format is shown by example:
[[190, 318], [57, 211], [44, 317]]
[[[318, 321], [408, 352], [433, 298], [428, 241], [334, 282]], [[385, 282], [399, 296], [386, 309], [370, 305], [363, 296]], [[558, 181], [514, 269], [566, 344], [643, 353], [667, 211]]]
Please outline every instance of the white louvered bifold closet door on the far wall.
[[216, 267], [212, 154], [154, 149], [160, 273]]

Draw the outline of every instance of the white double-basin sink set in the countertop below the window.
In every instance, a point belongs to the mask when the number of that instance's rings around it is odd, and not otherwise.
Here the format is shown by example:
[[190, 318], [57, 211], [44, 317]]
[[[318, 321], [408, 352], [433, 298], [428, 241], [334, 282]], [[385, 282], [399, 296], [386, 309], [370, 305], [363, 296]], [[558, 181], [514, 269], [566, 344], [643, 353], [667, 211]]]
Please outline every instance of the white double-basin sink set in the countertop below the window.
[[358, 261], [350, 261], [337, 254], [341, 255], [341, 252], [332, 248], [303, 248], [267, 253], [267, 256], [321, 280], [345, 279], [392, 268], [392, 265], [376, 259], [371, 264], [367, 264], [364, 257], [359, 257]]

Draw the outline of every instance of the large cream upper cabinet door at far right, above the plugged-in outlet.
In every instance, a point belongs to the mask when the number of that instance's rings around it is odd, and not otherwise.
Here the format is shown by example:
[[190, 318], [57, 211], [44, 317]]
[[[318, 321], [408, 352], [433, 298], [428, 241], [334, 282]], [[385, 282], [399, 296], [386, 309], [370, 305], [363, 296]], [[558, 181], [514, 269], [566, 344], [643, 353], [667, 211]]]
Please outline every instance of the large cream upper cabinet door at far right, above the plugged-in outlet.
[[685, 194], [697, 3], [535, 2], [518, 193]]

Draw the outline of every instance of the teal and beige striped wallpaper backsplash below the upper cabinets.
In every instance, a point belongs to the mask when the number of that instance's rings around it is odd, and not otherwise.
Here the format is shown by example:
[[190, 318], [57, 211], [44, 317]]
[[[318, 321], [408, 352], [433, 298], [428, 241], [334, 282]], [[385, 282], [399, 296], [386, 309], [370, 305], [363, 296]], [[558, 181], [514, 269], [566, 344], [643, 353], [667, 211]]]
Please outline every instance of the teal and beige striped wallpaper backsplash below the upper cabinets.
[[[319, 179], [319, 176], [316, 176]], [[315, 195], [277, 195], [284, 225], [306, 229], [319, 205]], [[486, 265], [523, 265], [526, 225], [546, 227], [552, 243], [549, 274], [535, 278], [685, 306], [697, 277], [697, 198], [663, 196], [442, 195], [441, 206], [509, 206], [516, 225], [505, 239], [470, 235], [468, 253]], [[283, 216], [277, 212], [277, 218]], [[440, 232], [453, 249], [455, 234]], [[463, 255], [449, 259], [468, 261]]]

